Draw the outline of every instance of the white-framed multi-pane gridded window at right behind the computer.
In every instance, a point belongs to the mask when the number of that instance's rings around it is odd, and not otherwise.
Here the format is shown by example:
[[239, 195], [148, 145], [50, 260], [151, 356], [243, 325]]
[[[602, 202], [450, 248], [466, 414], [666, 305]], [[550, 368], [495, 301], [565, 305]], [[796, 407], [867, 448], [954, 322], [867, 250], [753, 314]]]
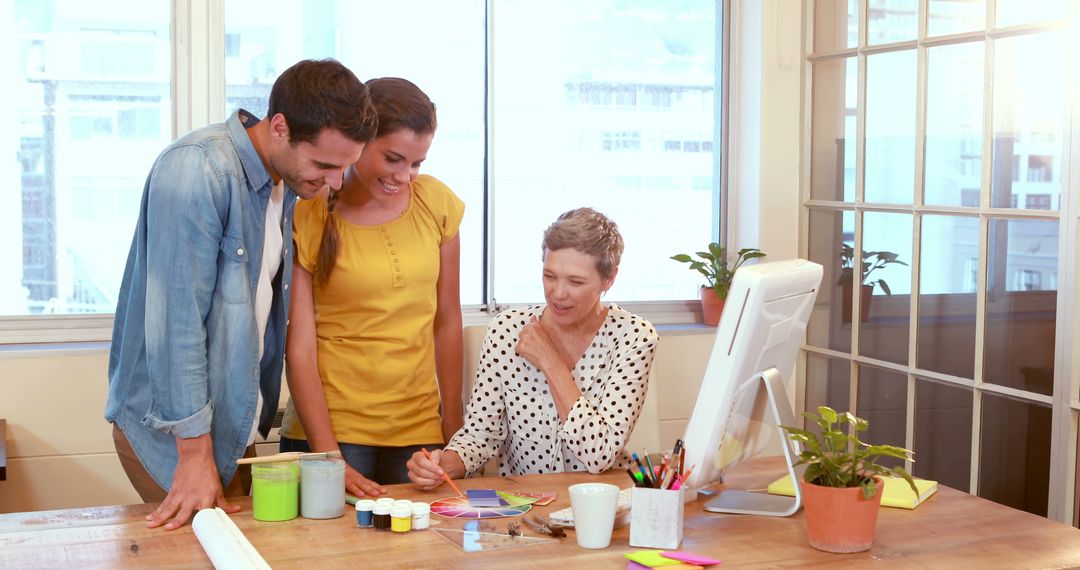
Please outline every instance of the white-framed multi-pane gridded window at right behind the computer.
[[[1065, 136], [1078, 98], [1066, 81], [1063, 30], [1077, 22], [1065, 4], [814, 2], [804, 250], [826, 271], [807, 405], [832, 401], [864, 417], [892, 406], [876, 420], [888, 440], [873, 443], [928, 459], [910, 465], [915, 475], [1071, 520], [1075, 449], [1051, 438], [1080, 416], [1075, 368], [1056, 369], [1070, 357], [1055, 355], [1078, 336], [1072, 315], [1057, 314], [1058, 295], [1071, 307], [1080, 290], [1071, 276], [1057, 290], [1078, 248], [1063, 236], [1080, 225], [1077, 204], [1058, 212], [1069, 191], [1059, 171], [1080, 146]], [[868, 277], [864, 315], [839, 284], [841, 244], [905, 262]], [[879, 280], [892, 295], [878, 294]], [[813, 364], [824, 361], [843, 372], [833, 375], [842, 391], [826, 390], [833, 378]], [[915, 403], [889, 402], [890, 392]]]

